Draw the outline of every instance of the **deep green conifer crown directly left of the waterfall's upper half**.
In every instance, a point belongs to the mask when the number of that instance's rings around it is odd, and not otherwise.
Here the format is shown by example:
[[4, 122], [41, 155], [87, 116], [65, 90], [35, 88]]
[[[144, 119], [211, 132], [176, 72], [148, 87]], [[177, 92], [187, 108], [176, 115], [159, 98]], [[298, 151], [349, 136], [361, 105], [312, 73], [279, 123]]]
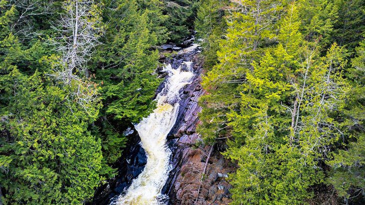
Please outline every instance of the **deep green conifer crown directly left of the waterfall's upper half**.
[[113, 18], [104, 45], [92, 59], [93, 69], [103, 83], [100, 92], [108, 104], [106, 114], [137, 122], [152, 110], [150, 104], [159, 84], [153, 73], [158, 55], [148, 50], [155, 45], [156, 36], [148, 30], [147, 13], [141, 14], [135, 1], [122, 2], [110, 12]]

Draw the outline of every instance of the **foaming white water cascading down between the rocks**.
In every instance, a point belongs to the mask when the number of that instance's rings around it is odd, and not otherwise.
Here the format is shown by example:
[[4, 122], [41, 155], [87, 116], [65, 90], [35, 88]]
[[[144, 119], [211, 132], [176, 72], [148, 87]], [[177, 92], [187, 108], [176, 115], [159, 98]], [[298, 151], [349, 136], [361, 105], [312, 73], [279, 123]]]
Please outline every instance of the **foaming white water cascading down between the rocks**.
[[167, 181], [170, 150], [166, 146], [166, 136], [175, 124], [179, 108], [179, 90], [191, 83], [194, 74], [191, 62], [185, 61], [189, 71], [165, 66], [168, 77], [164, 88], [156, 97], [157, 108], [148, 117], [135, 125], [140, 137], [141, 147], [147, 156], [143, 172], [132, 181], [125, 194], [112, 202], [113, 205], [161, 205], [166, 198], [161, 190]]

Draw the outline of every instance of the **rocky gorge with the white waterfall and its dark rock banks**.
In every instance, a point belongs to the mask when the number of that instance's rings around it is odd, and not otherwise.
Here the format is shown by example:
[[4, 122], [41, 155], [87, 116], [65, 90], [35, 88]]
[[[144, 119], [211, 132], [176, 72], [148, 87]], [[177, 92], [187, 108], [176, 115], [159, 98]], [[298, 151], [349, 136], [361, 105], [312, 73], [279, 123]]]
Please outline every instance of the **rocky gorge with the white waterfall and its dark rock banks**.
[[[119, 160], [119, 175], [99, 188], [90, 204], [226, 203], [225, 177], [230, 170], [223, 169], [228, 162], [219, 154], [224, 148], [204, 146], [195, 132], [201, 111], [198, 98], [204, 90], [200, 85], [203, 60], [193, 40], [192, 36], [181, 45], [161, 46], [164, 66], [157, 72], [164, 80], [156, 90], [157, 107], [124, 132], [130, 135], [130, 149]], [[172, 56], [165, 57], [169, 53]]]

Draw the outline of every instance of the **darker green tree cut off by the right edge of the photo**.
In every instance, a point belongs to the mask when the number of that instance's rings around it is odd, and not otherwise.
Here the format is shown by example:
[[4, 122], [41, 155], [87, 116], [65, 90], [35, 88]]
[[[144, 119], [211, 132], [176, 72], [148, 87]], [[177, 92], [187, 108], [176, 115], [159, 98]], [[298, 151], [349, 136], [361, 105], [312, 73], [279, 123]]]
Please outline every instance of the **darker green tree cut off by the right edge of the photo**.
[[[353, 69], [350, 70], [350, 76], [353, 77], [354, 87], [349, 93], [349, 101], [345, 106], [345, 114], [348, 123], [353, 124], [354, 128], [349, 130], [349, 142], [343, 143], [345, 149], [340, 149], [333, 153], [331, 160], [327, 162], [331, 166], [327, 183], [332, 185], [338, 195], [345, 199], [352, 198], [361, 194], [365, 190], [365, 172], [363, 169], [365, 163], [365, 138], [363, 134], [363, 121], [365, 112], [363, 109], [363, 99], [365, 98], [364, 85], [364, 41], [356, 47], [357, 56], [352, 59]], [[357, 126], [357, 128], [356, 128]]]

